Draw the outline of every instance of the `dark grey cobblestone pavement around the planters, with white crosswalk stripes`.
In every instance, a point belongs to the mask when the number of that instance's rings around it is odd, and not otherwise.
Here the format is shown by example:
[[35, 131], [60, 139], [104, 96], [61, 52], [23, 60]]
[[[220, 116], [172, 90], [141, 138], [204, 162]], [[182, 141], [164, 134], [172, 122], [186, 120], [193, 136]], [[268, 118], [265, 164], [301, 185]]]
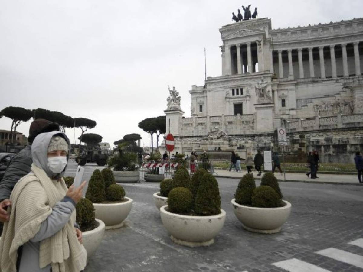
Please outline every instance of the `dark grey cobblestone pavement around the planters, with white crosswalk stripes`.
[[171, 241], [152, 199], [159, 184], [123, 184], [134, 200], [126, 225], [106, 231], [85, 272], [363, 271], [362, 186], [280, 183], [291, 215], [280, 233], [266, 235], [244, 230], [234, 216], [238, 180], [218, 183], [226, 221], [213, 245], [198, 248]]

